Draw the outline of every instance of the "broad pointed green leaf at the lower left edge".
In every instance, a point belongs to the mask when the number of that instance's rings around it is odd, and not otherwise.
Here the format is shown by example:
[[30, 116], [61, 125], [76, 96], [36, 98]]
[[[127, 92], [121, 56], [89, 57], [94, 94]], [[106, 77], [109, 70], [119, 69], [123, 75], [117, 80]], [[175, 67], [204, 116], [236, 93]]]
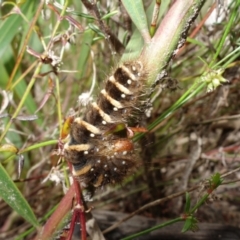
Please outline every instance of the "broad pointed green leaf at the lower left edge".
[[39, 223], [24, 196], [18, 190], [12, 179], [0, 164], [0, 197], [19, 215], [30, 222], [34, 227]]

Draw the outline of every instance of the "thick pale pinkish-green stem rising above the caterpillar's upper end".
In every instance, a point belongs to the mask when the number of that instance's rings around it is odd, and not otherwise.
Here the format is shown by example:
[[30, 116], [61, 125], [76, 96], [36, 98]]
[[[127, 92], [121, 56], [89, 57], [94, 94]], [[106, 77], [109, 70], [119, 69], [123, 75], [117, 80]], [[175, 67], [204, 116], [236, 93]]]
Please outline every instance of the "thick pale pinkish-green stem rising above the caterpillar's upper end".
[[158, 73], [166, 69], [167, 64], [185, 41], [187, 32], [201, 10], [205, 0], [175, 1], [151, 42], [144, 48], [142, 59], [149, 71], [148, 85], [152, 85]]

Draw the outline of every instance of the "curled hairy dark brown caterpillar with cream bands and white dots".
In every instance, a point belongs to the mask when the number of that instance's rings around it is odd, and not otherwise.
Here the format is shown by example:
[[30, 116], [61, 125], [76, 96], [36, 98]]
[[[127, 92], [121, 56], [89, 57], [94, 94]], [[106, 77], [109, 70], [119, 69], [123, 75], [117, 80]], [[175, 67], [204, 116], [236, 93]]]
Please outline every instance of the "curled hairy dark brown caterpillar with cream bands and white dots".
[[97, 100], [71, 124], [64, 156], [73, 165], [73, 176], [87, 186], [121, 183], [137, 166], [134, 143], [126, 129], [114, 129], [119, 124], [139, 121], [147, 75], [141, 60], [119, 65], [107, 78]]

